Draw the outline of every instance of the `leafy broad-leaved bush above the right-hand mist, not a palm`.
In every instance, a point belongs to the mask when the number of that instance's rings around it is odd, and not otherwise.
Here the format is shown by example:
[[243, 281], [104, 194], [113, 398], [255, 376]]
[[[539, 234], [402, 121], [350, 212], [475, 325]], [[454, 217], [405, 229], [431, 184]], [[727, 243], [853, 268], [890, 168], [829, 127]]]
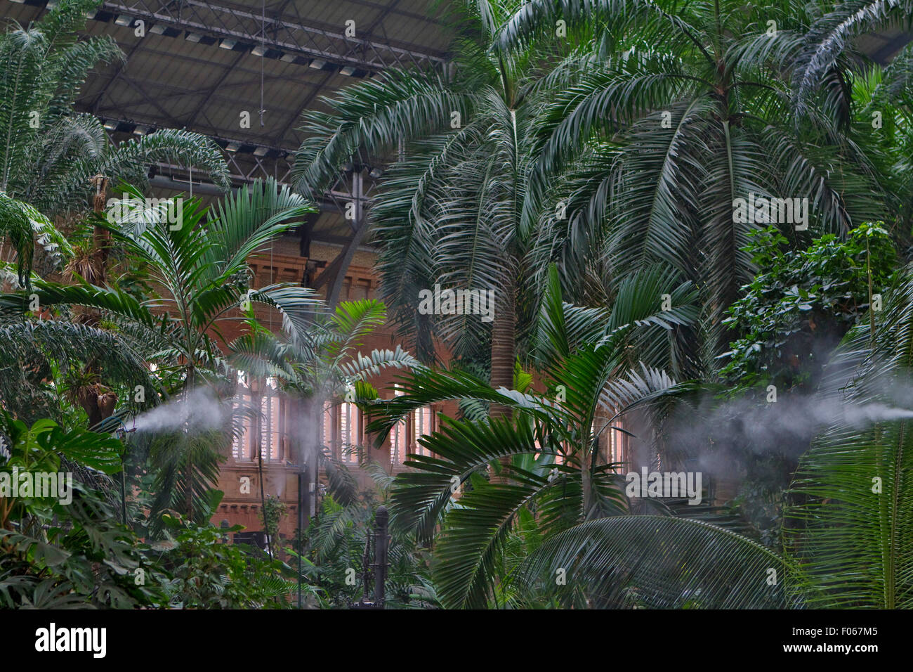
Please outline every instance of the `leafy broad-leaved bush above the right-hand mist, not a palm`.
[[866, 316], [869, 278], [879, 299], [887, 291], [894, 243], [883, 225], [863, 224], [846, 240], [829, 233], [796, 250], [766, 229], [747, 251], [762, 271], [729, 307], [724, 324], [745, 336], [731, 344], [719, 375], [739, 388], [813, 390], [831, 351]]

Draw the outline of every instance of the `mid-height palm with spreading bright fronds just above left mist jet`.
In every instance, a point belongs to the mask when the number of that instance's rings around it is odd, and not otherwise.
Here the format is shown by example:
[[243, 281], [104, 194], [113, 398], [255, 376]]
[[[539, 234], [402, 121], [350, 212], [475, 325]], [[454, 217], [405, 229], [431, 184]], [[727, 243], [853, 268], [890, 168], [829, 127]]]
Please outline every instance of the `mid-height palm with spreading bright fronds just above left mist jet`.
[[[146, 208], [137, 189], [125, 187], [125, 193], [130, 197], [122, 204], [121, 221], [111, 225], [98, 217], [96, 222], [109, 230], [131, 263], [146, 269], [153, 295], [141, 299], [116, 285], [67, 285], [37, 278], [34, 293], [42, 306], [99, 310], [102, 323], [155, 366], [159, 384], [145, 390], [147, 404], [159, 394], [187, 399], [201, 388], [211, 389], [216, 401], [220, 395], [231, 396], [234, 381], [221, 332], [226, 321], [259, 303], [278, 310], [287, 325], [306, 330], [310, 313], [320, 304], [310, 290], [295, 284], [249, 287], [248, 257], [296, 226], [311, 211], [309, 204], [271, 179], [242, 187], [211, 208], [198, 198]], [[28, 293], [2, 297], [7, 309], [20, 313], [28, 311], [29, 303]], [[185, 404], [184, 411], [191, 406]], [[187, 429], [165, 437], [153, 452], [160, 467], [155, 511], [171, 506], [191, 516], [200, 513], [218, 475], [213, 439], [225, 437]]]

